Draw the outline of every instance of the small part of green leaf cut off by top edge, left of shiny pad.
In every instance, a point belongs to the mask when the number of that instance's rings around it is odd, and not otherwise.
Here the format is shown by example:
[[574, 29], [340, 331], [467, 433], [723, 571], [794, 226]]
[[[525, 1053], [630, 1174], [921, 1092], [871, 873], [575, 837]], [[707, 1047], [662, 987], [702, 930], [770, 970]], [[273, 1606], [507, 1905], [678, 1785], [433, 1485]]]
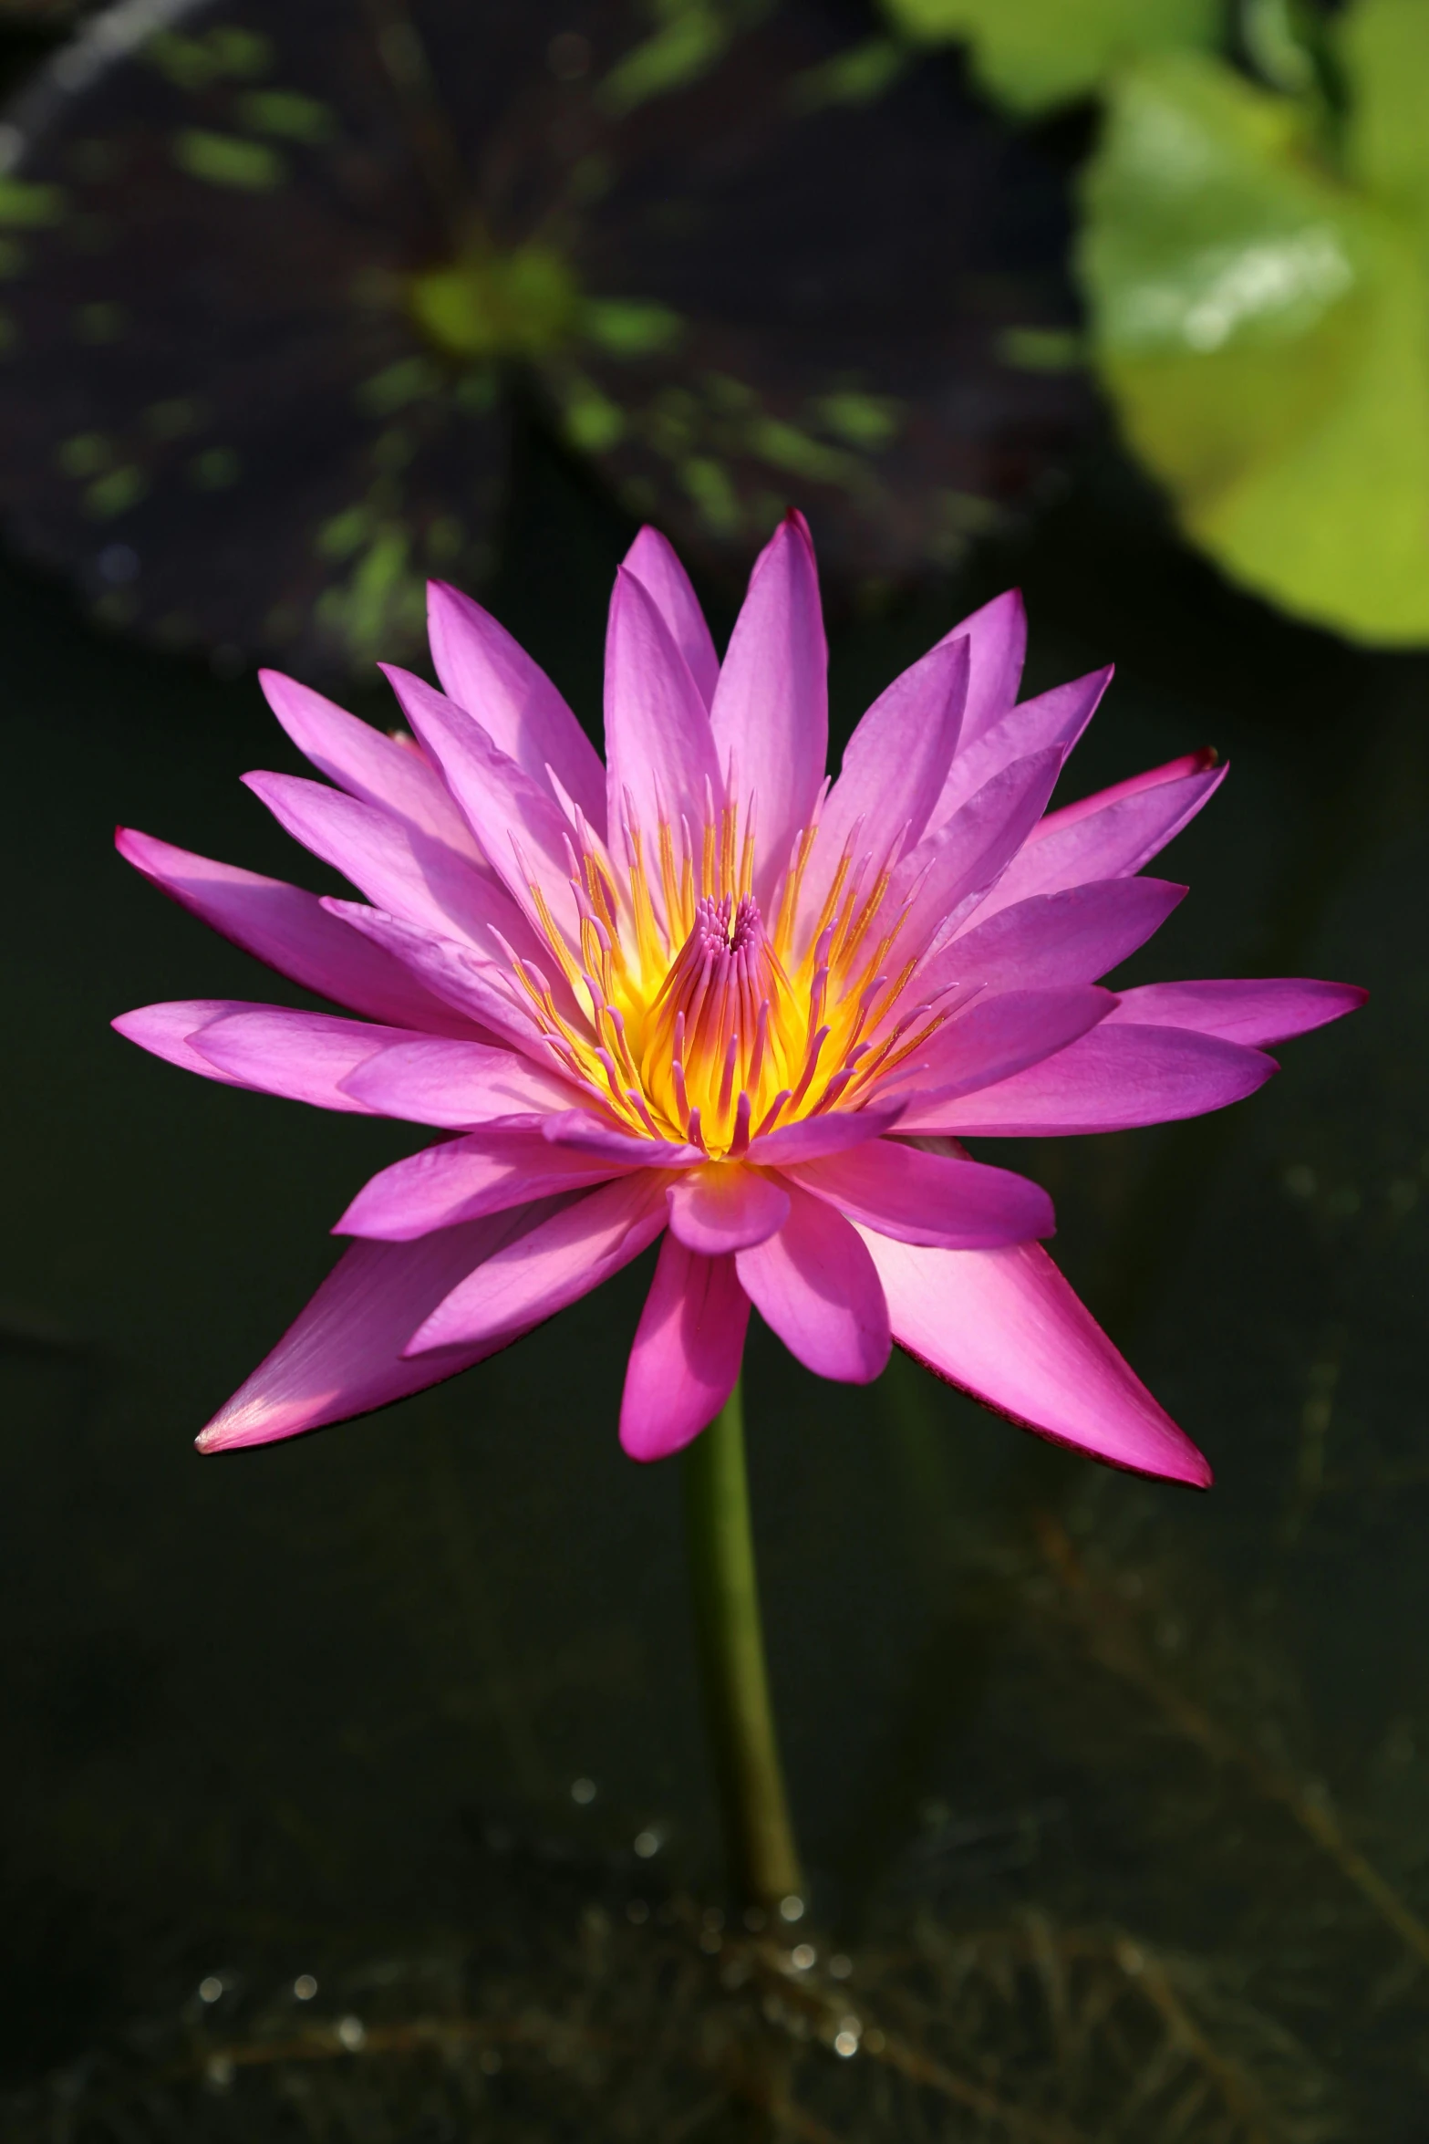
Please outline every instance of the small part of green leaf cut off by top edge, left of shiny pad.
[[979, 84], [1013, 111], [1088, 96], [1123, 60], [1215, 45], [1223, 0], [885, 0], [904, 36], [966, 41]]

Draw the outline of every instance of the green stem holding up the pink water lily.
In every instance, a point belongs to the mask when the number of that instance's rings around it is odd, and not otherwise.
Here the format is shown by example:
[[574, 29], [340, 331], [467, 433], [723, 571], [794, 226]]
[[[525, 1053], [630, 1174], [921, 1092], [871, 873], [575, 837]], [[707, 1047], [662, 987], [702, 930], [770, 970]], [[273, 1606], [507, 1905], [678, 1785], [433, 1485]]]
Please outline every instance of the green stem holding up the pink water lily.
[[803, 1897], [803, 1872], [769, 1702], [739, 1385], [681, 1464], [694, 1642], [731, 1882], [750, 1906], [776, 1908]]

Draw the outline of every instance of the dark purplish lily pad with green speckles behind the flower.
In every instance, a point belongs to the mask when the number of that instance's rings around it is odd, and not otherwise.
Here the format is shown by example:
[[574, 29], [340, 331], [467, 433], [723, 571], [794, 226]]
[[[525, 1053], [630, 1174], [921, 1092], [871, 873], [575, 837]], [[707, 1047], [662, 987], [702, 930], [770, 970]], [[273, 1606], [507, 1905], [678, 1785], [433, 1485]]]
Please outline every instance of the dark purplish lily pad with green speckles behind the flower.
[[0, 165], [0, 519], [231, 660], [416, 652], [516, 394], [711, 568], [801, 504], [846, 585], [1090, 410], [1061, 176], [836, 0], [122, 4]]

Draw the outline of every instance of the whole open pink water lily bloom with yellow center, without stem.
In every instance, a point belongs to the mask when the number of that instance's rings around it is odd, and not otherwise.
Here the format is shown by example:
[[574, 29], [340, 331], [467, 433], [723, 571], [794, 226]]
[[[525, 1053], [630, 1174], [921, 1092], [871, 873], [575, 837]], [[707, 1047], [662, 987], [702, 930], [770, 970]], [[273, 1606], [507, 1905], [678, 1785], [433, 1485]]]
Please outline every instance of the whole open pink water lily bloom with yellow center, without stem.
[[249, 787], [362, 896], [317, 898], [122, 830], [163, 892], [356, 1018], [186, 1001], [116, 1021], [236, 1087], [439, 1128], [336, 1222], [356, 1241], [199, 1436], [268, 1443], [469, 1368], [660, 1239], [621, 1443], [696, 1436], [750, 1304], [821, 1376], [898, 1342], [1043, 1436], [1210, 1471], [1039, 1237], [1046, 1192], [964, 1134], [1105, 1132], [1221, 1108], [1264, 1044], [1363, 1001], [1333, 982], [1099, 986], [1185, 888], [1138, 877], [1223, 776], [1191, 755], [1048, 810], [1110, 671], [1018, 703], [1016, 594], [953, 626], [825, 776], [808, 530], [763, 551], [718, 660], [643, 530], [606, 641], [606, 763], [476, 602], [431, 592], [443, 690], [409, 733], [289, 678], [326, 780]]

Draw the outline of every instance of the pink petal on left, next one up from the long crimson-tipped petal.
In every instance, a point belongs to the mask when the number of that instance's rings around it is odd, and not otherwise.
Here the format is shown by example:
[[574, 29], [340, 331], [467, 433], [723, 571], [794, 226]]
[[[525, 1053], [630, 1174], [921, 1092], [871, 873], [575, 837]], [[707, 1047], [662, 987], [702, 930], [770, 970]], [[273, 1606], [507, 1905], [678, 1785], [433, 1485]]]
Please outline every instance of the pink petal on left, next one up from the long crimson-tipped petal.
[[244, 783], [294, 840], [341, 870], [379, 909], [486, 950], [495, 926], [525, 952], [529, 933], [518, 909], [446, 843], [300, 774], [244, 774]]

